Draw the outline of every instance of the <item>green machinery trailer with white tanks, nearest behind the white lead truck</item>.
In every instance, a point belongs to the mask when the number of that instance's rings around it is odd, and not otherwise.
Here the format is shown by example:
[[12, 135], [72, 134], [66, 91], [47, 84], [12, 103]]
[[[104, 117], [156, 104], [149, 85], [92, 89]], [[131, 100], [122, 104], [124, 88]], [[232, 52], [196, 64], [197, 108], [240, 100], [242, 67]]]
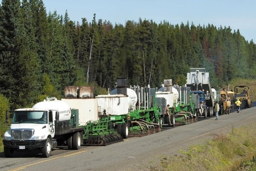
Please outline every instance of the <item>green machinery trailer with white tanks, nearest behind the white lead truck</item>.
[[118, 79], [117, 89], [109, 95], [95, 97], [99, 120], [86, 123], [84, 145], [108, 145], [161, 130], [155, 89], [128, 89], [126, 81], [126, 78]]

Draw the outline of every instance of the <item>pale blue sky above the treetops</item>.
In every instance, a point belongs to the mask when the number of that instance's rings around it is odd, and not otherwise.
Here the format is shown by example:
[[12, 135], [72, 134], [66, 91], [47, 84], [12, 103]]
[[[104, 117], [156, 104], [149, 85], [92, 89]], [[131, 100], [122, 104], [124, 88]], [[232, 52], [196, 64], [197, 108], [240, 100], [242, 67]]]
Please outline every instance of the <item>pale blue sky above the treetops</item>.
[[43, 0], [47, 13], [69, 14], [70, 20], [79, 21], [85, 17], [89, 22], [96, 14], [96, 20], [110, 21], [125, 26], [133, 20], [163, 20], [175, 25], [192, 22], [201, 26], [213, 24], [217, 28], [230, 26], [232, 32], [239, 29], [248, 41], [256, 43], [256, 1], [255, 0]]

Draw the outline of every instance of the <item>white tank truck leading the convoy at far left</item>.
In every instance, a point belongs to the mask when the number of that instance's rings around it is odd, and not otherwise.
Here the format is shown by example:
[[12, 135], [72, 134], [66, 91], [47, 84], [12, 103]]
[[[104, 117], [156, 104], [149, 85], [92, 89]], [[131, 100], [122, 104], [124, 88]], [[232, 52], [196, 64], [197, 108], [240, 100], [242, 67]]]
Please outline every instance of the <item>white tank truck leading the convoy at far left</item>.
[[84, 134], [78, 114], [78, 110], [71, 110], [55, 97], [32, 108], [14, 110], [10, 129], [3, 136], [5, 156], [13, 157], [14, 151], [38, 150], [39, 154], [49, 157], [57, 145], [78, 150]]

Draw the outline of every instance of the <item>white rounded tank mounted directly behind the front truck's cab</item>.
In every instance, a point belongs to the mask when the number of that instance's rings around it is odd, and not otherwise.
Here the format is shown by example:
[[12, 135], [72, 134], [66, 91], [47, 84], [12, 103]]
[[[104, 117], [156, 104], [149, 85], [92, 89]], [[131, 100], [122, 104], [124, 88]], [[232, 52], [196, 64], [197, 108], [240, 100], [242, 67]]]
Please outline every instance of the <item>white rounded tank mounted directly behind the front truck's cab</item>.
[[71, 110], [67, 103], [57, 99], [38, 102], [32, 108], [39, 110], [57, 110], [59, 112], [59, 120], [69, 120], [71, 116]]

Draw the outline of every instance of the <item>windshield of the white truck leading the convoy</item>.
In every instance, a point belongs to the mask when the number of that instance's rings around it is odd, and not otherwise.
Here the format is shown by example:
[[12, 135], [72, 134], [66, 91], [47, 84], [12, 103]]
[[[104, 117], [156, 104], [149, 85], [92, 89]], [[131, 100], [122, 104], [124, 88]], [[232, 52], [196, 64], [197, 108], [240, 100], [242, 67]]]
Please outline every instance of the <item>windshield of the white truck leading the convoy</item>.
[[19, 123], [46, 124], [47, 111], [15, 111], [13, 113], [12, 124]]

